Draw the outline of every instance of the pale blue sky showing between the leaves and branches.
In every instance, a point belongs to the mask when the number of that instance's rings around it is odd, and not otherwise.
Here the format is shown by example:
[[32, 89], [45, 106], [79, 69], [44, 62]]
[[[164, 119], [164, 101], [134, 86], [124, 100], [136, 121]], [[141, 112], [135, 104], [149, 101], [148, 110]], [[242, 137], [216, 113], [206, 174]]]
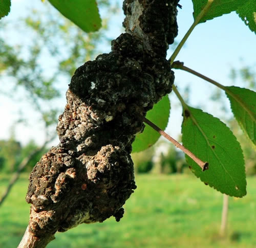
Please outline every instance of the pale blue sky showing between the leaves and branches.
[[[121, 3], [121, 1], [118, 1]], [[31, 6], [42, 6], [38, 1], [12, 0], [11, 14], [6, 17], [10, 20], [17, 20], [20, 15], [26, 14], [26, 9]], [[177, 41], [181, 40], [190, 25], [193, 23], [193, 5], [192, 1], [181, 0], [182, 9], [178, 13], [179, 35]], [[40, 8], [40, 7], [39, 7]], [[111, 23], [111, 32], [109, 36], [117, 37], [121, 33], [123, 14], [122, 11], [113, 19]], [[1, 25], [1, 22], [0, 22]], [[29, 36], [29, 34], [26, 34]], [[12, 36], [13, 39], [15, 37]], [[198, 25], [189, 36], [185, 47], [177, 56], [176, 60], [183, 61], [186, 66], [194, 69], [224, 85], [232, 85], [229, 79], [231, 67], [241, 67], [241, 59], [244, 65], [256, 66], [256, 36], [252, 33], [236, 13], [223, 15]], [[110, 46], [102, 47], [103, 52], [109, 52]], [[170, 56], [168, 53], [168, 58]], [[175, 71], [175, 84], [181, 93], [187, 85], [190, 85], [190, 105], [200, 106], [204, 111], [209, 111], [217, 117], [222, 115], [220, 106], [214, 106], [209, 102], [210, 94], [215, 90], [214, 85], [180, 70]], [[7, 82], [2, 81], [1, 84]], [[67, 82], [68, 84], [69, 82]], [[66, 84], [66, 85], [67, 85]], [[243, 87], [243, 82], [238, 82], [238, 86]], [[172, 102], [172, 111], [167, 127], [167, 132], [174, 138], [180, 134], [181, 107], [174, 94], [170, 96]], [[7, 110], [7, 104], [11, 106], [12, 111]], [[61, 98], [59, 104], [65, 106], [65, 96]], [[228, 102], [226, 102], [228, 104]], [[0, 139], [7, 139], [9, 136], [10, 125], [15, 121], [17, 109], [20, 104], [1, 96], [0, 112], [5, 116], [5, 121], [1, 122]], [[41, 127], [36, 125], [36, 113], [28, 109], [27, 118], [30, 120], [30, 126], [19, 125], [16, 129], [16, 138], [22, 143], [27, 143], [30, 139], [42, 143], [44, 137], [41, 135]], [[54, 142], [56, 144], [57, 141]]]

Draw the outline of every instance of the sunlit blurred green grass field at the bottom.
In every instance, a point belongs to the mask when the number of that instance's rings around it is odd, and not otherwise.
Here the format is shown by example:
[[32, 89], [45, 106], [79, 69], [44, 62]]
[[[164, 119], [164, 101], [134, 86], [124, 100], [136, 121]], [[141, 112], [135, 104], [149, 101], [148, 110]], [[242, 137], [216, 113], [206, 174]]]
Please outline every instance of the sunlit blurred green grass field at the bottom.
[[[16, 247], [27, 227], [28, 175], [23, 174], [0, 208], [0, 247]], [[0, 194], [8, 183], [0, 175]], [[256, 178], [247, 196], [229, 198], [228, 234], [219, 236], [222, 194], [193, 175], [137, 175], [120, 222], [82, 224], [57, 233], [47, 247], [256, 247]]]

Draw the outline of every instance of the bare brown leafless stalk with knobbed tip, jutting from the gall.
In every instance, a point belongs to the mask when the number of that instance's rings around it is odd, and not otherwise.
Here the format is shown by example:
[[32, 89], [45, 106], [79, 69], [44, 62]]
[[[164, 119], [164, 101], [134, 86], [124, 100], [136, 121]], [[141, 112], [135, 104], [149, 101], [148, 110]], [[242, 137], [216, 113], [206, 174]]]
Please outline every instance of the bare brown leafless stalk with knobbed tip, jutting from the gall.
[[209, 164], [207, 162], [203, 162], [202, 160], [200, 160], [194, 153], [192, 153], [191, 151], [189, 151], [188, 149], [186, 149], [183, 145], [181, 145], [178, 141], [176, 141], [175, 139], [173, 139], [172, 137], [170, 137], [165, 131], [163, 131], [162, 129], [160, 129], [157, 125], [155, 125], [154, 123], [152, 123], [150, 120], [143, 118], [143, 122], [145, 122], [146, 124], [148, 124], [149, 126], [151, 126], [152, 128], [154, 128], [156, 131], [158, 131], [165, 139], [167, 139], [168, 141], [172, 142], [176, 147], [178, 147], [179, 149], [181, 149], [184, 153], [186, 153], [189, 157], [191, 157], [191, 159], [193, 159], [201, 168], [202, 171], [208, 170], [208, 166]]

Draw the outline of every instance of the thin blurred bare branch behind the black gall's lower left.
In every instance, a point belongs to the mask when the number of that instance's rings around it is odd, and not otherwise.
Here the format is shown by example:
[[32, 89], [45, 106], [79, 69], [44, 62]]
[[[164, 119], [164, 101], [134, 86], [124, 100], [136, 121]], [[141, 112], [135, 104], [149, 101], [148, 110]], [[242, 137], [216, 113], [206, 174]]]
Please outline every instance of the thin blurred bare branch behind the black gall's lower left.
[[42, 150], [44, 150], [47, 146], [47, 144], [51, 141], [52, 139], [50, 140], [47, 140], [42, 146], [36, 148], [34, 151], [32, 151], [27, 157], [25, 157], [23, 159], [22, 162], [20, 162], [19, 166], [18, 166], [18, 169], [16, 172], [14, 172], [12, 178], [10, 179], [9, 181], [9, 184], [5, 190], [5, 192], [3, 193], [1, 199], [0, 199], [0, 206], [3, 204], [3, 202], [5, 201], [6, 197], [8, 196], [8, 194], [10, 193], [13, 185], [15, 184], [15, 182], [17, 181], [17, 179], [19, 178], [19, 175], [20, 173], [24, 170], [24, 168], [29, 164], [29, 162], [33, 159], [33, 157], [41, 152]]

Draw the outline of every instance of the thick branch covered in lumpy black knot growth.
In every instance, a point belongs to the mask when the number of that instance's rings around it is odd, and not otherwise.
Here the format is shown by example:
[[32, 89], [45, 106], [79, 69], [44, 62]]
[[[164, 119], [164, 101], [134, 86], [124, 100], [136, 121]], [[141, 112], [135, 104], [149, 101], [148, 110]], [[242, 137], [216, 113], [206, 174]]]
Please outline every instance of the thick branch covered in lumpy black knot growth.
[[30, 220], [19, 247], [45, 247], [55, 232], [123, 216], [136, 188], [130, 153], [146, 111], [170, 93], [166, 60], [174, 42], [178, 0], [125, 0], [126, 33], [112, 51], [80, 66], [59, 116], [60, 143], [30, 175]]

